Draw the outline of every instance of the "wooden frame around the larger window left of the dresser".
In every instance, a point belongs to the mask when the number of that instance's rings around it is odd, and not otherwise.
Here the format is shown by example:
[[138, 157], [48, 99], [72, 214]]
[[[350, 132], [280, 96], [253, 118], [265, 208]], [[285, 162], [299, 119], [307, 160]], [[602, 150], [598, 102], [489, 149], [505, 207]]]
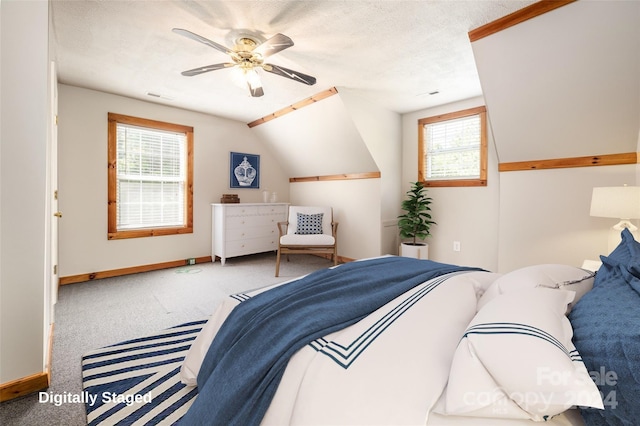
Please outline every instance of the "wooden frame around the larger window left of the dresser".
[[[185, 224], [177, 227], [158, 227], [131, 229], [118, 231], [117, 202], [116, 202], [116, 126], [118, 123], [130, 124], [139, 127], [148, 127], [156, 130], [166, 130], [171, 132], [184, 133], [187, 137], [187, 182], [185, 188]], [[180, 124], [166, 123], [163, 121], [148, 120], [145, 118], [131, 117], [122, 114], [108, 114], [108, 159], [107, 159], [107, 181], [108, 181], [108, 233], [109, 240], [124, 238], [155, 237], [161, 235], [191, 234], [193, 233], [193, 127]]]

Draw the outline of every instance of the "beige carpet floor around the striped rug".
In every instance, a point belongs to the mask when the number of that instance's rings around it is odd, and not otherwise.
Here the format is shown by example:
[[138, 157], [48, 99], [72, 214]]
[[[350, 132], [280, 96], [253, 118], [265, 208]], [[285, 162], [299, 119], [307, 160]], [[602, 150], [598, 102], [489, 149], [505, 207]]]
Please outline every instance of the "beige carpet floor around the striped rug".
[[[71, 284], [55, 307], [52, 382], [47, 393], [82, 392], [81, 356], [93, 349], [208, 317], [229, 294], [305, 275], [332, 263], [291, 256], [274, 277], [275, 254]], [[85, 425], [82, 403], [39, 402], [35, 393], [0, 405], [0, 424]]]

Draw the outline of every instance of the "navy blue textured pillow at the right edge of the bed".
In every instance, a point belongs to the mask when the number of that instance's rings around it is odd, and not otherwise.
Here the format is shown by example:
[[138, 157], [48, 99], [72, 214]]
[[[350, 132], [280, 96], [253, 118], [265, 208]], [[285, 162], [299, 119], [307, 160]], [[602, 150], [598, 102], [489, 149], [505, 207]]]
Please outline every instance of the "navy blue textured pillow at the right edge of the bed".
[[640, 421], [640, 244], [625, 229], [620, 245], [601, 259], [593, 290], [569, 316], [605, 406], [581, 414], [587, 426], [634, 426]]

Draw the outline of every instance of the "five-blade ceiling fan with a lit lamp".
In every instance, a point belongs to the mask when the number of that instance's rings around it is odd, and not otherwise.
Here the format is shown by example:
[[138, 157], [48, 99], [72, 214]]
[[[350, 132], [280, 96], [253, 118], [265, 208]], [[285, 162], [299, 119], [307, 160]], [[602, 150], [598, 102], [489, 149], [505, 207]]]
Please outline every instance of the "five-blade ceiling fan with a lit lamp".
[[241, 37], [237, 40], [237, 44], [234, 46], [234, 48], [230, 49], [182, 28], [174, 28], [172, 31], [176, 34], [188, 37], [202, 44], [206, 44], [209, 47], [213, 47], [220, 52], [226, 53], [231, 57], [231, 60], [233, 61], [206, 65], [203, 67], [194, 68], [192, 70], [183, 71], [182, 75], [184, 76], [192, 77], [194, 75], [199, 75], [209, 71], [238, 67], [244, 75], [244, 79], [247, 83], [247, 86], [249, 87], [251, 96], [254, 97], [264, 95], [264, 91], [262, 90], [262, 83], [260, 82], [260, 76], [256, 71], [257, 68], [262, 68], [266, 72], [270, 72], [281, 77], [290, 78], [291, 80], [308, 84], [310, 86], [316, 83], [315, 77], [312, 77], [310, 75], [303, 74], [298, 71], [293, 71], [279, 65], [264, 63], [264, 60], [269, 56], [293, 46], [293, 40], [291, 40], [284, 34], [276, 34], [261, 44], [258, 44], [256, 40], [248, 36]]

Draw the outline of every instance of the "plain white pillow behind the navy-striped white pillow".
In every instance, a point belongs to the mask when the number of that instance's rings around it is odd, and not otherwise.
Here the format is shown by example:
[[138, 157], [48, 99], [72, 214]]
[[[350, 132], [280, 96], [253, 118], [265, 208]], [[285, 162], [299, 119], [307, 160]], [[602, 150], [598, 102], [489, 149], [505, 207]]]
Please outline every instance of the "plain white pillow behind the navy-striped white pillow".
[[567, 313], [578, 300], [593, 288], [595, 272], [571, 265], [541, 264], [516, 269], [502, 275], [485, 291], [478, 301], [477, 310], [500, 294], [519, 291], [523, 288], [546, 287], [576, 292]]

